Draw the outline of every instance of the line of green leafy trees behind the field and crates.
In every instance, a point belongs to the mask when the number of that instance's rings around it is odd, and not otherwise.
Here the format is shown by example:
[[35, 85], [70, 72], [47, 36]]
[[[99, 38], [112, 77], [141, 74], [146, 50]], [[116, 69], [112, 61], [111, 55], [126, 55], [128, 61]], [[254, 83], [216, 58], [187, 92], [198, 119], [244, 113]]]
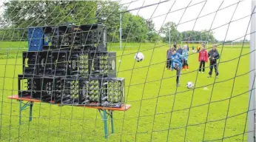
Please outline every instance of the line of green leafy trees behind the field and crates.
[[108, 27], [108, 41], [118, 42], [121, 12], [121, 37], [126, 42], [168, 42], [169, 30], [172, 41], [216, 41], [213, 33], [206, 30], [179, 32], [171, 21], [156, 31], [152, 19], [132, 15], [115, 1], [7, 1], [4, 7], [0, 17], [1, 40], [26, 40], [27, 31], [20, 30], [26, 27], [99, 23]]

